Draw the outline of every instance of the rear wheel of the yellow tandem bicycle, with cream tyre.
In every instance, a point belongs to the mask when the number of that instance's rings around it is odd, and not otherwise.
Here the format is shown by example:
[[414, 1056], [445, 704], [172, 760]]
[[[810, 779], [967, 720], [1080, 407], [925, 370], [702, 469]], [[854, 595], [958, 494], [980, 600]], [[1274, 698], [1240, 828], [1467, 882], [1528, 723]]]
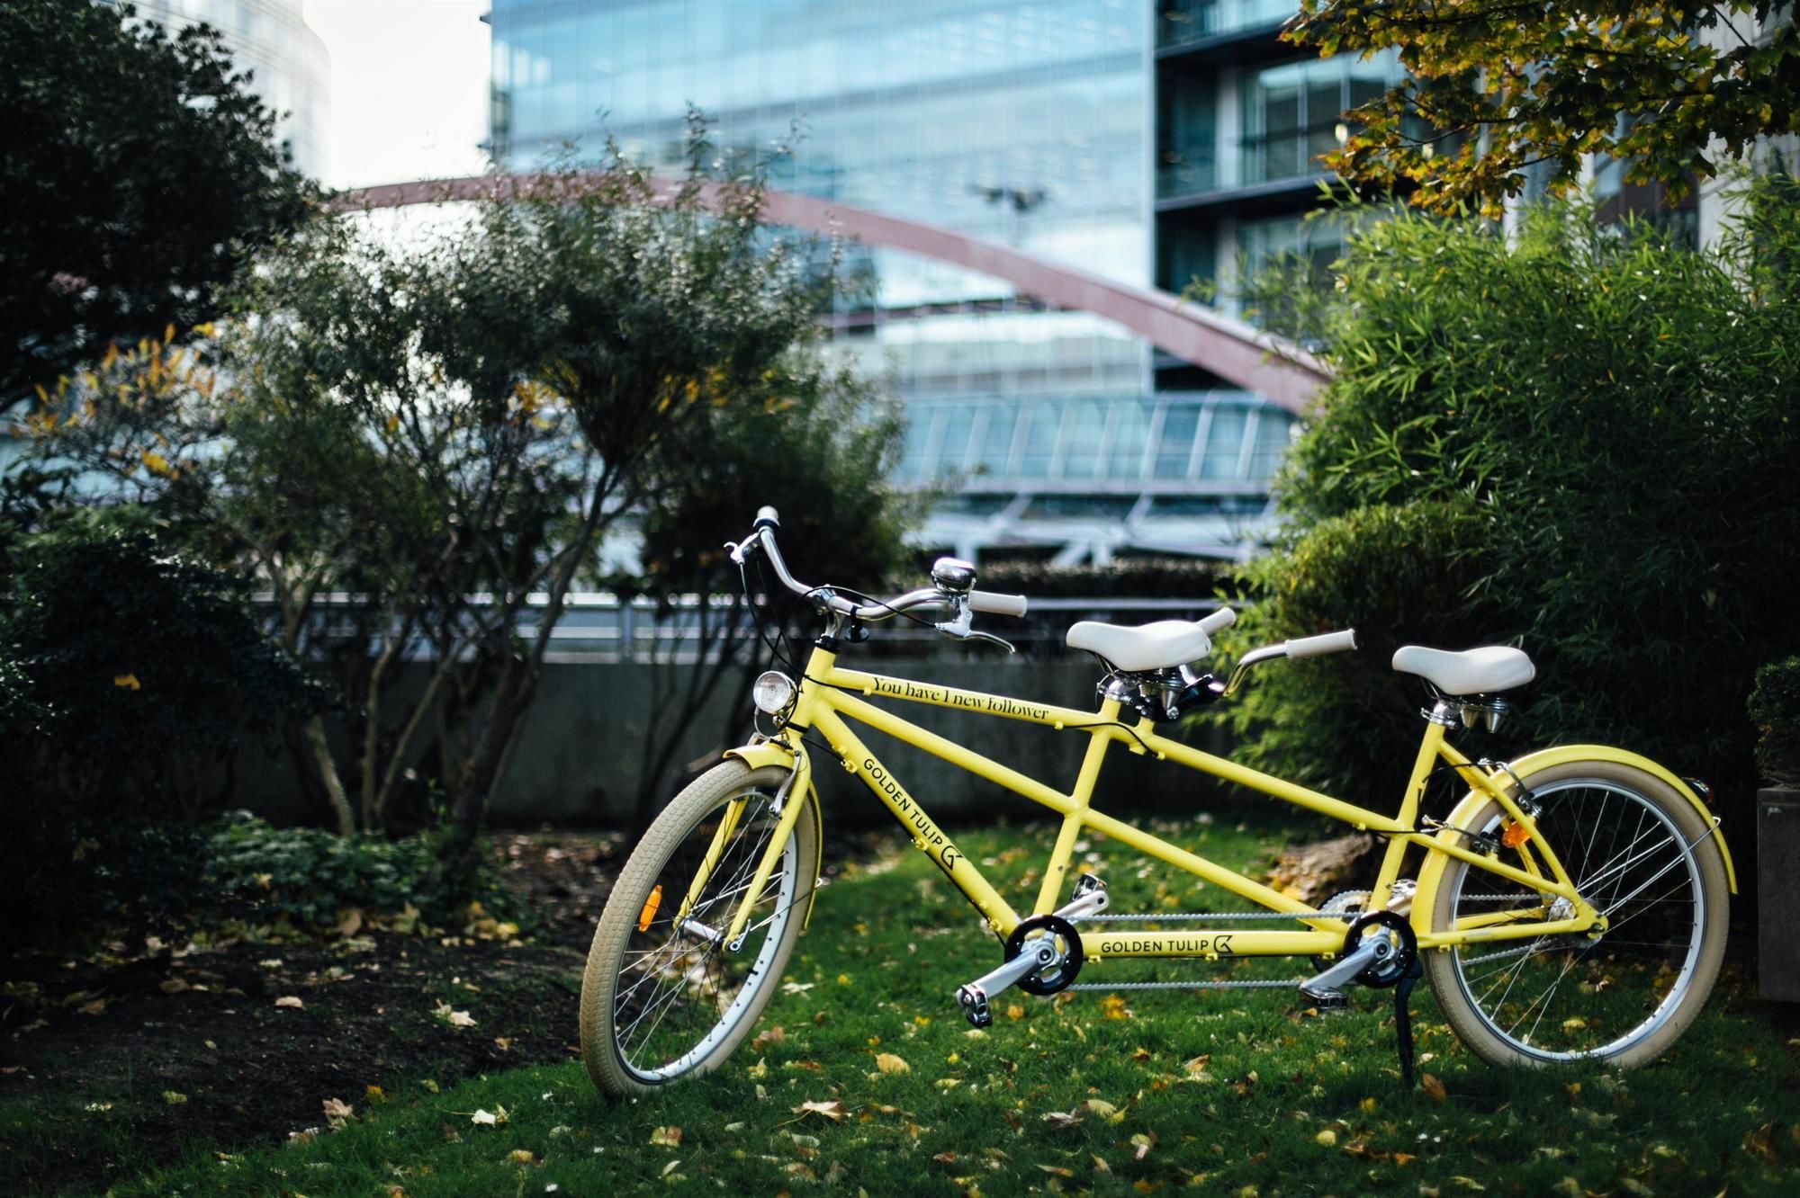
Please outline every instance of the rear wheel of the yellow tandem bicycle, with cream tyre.
[[[1607, 917], [1598, 939], [1543, 935], [1422, 953], [1426, 975], [1463, 1043], [1496, 1065], [1604, 1059], [1642, 1065], [1699, 1015], [1724, 955], [1724, 863], [1710, 826], [1661, 779], [1611, 761], [1575, 761], [1525, 779], [1537, 829], [1577, 892]], [[1471, 831], [1499, 836], [1489, 802]], [[1525, 867], [1521, 849], [1503, 862]], [[1489, 923], [1541, 898], [1467, 862], [1444, 871], [1431, 926]], [[1564, 919], [1566, 903], [1535, 916]], [[1465, 925], [1467, 926], [1467, 925]]]

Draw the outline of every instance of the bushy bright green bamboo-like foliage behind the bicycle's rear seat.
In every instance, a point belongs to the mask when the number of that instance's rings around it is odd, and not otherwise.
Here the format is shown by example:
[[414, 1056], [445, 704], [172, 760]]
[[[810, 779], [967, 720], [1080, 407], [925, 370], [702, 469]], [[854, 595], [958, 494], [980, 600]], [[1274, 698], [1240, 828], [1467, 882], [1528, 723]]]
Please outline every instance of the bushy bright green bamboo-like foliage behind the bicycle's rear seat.
[[1397, 793], [1420, 689], [1391, 649], [1519, 642], [1539, 682], [1517, 743], [1598, 739], [1748, 788], [1753, 671], [1796, 644], [1796, 254], [1786, 178], [1750, 189], [1717, 254], [1566, 203], [1510, 248], [1418, 214], [1354, 234], [1337, 376], [1233, 635], [1355, 624], [1366, 649], [1260, 671], [1228, 712], [1249, 752]]

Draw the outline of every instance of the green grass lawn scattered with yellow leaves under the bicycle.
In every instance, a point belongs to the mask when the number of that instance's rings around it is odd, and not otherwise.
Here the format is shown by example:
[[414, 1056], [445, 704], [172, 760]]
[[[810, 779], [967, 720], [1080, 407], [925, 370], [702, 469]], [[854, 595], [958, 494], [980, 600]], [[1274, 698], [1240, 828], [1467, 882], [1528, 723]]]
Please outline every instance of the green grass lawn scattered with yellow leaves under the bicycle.
[[[1283, 840], [1201, 822], [1161, 831], [1238, 867]], [[958, 840], [1028, 903], [1048, 829]], [[1237, 907], [1192, 880], [1163, 889], [1161, 869], [1139, 874], [1098, 838], [1085, 854], [1114, 910]], [[580, 1063], [443, 1090], [356, 1086], [338, 1131], [239, 1155], [196, 1144], [113, 1193], [1800, 1193], [1795, 1047], [1733, 975], [1672, 1052], [1633, 1072], [1498, 1072], [1420, 989], [1433, 1081], [1408, 1092], [1390, 991], [1354, 991], [1350, 1011], [1325, 1016], [1285, 989], [1012, 993], [995, 1025], [974, 1031], [952, 995], [995, 962], [934, 867], [884, 856], [819, 896], [758, 1042], [718, 1074], [632, 1103], [603, 1101]], [[1080, 980], [1152, 968], [1175, 966], [1107, 962]], [[1224, 977], [1296, 971], [1246, 962]], [[99, 1146], [106, 1115], [92, 1119]]]

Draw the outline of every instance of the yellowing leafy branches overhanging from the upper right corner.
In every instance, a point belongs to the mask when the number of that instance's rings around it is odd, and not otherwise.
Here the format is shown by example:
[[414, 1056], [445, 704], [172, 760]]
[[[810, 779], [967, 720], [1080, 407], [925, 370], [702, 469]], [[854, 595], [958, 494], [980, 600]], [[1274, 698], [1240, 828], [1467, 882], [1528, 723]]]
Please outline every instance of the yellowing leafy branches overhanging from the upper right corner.
[[1800, 25], [1780, 0], [1301, 0], [1283, 36], [1323, 54], [1399, 49], [1406, 79], [1355, 110], [1363, 128], [1325, 164], [1381, 189], [1420, 183], [1413, 201], [1440, 212], [1498, 214], [1537, 162], [1562, 194], [1589, 153], [1681, 196], [1760, 135], [1800, 133]]

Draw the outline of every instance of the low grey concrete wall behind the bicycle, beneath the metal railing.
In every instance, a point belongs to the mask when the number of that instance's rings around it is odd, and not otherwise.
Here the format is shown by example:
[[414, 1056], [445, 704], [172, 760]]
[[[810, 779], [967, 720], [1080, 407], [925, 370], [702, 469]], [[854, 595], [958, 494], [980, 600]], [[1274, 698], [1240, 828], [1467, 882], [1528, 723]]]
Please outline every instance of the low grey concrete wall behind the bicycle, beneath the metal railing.
[[[862, 666], [862, 664], [859, 664]], [[1093, 711], [1098, 707], [1094, 684], [1100, 678], [1091, 662], [869, 662], [868, 669], [900, 678], [922, 678], [943, 685], [986, 691], [1012, 698]], [[526, 716], [518, 743], [508, 764], [491, 818], [497, 824], [621, 824], [632, 818], [639, 779], [646, 768], [652, 725], [659, 696], [671, 694], [686, 682], [691, 667], [655, 667], [643, 662], [553, 662], [545, 666], [536, 702]], [[416, 667], [418, 673], [418, 667]], [[418, 678], [409, 678], [416, 685]], [[1039, 725], [994, 716], [952, 712], [925, 703], [884, 702], [884, 707], [920, 727], [958, 739], [1026, 772], [1049, 786], [1069, 790], [1080, 766], [1087, 738], [1080, 732], [1055, 732]], [[398, 700], [392, 711], [398, 711]], [[749, 709], [749, 698], [736, 687], [720, 693], [689, 725], [675, 755], [677, 773], [684, 764], [704, 768], [725, 748], [724, 729], [733, 709]], [[661, 723], [668, 723], [664, 714]], [[853, 725], [855, 732], [887, 764], [895, 777], [938, 818], [988, 820], [1006, 815], [1031, 818], [1044, 815], [1037, 804], [1012, 791], [965, 773], [931, 754], [902, 745], [873, 729]], [[742, 738], [738, 738], [742, 739]], [[738, 741], [733, 741], [738, 743]], [[1220, 738], [1208, 745], [1224, 752]], [[340, 761], [347, 759], [340, 755]], [[868, 788], [835, 766], [824, 752], [814, 754], [819, 793], [826, 817], [839, 826], [868, 826], [887, 818]], [[247, 755], [238, 766], [234, 791], [241, 804], [275, 820], [317, 818], [293, 773], [293, 763]], [[679, 784], [679, 782], [677, 782]], [[668, 790], [668, 788], [664, 788]], [[1219, 795], [1217, 784], [1179, 766], [1154, 763], [1120, 747], [1107, 757], [1096, 802], [1105, 809], [1197, 809]]]

